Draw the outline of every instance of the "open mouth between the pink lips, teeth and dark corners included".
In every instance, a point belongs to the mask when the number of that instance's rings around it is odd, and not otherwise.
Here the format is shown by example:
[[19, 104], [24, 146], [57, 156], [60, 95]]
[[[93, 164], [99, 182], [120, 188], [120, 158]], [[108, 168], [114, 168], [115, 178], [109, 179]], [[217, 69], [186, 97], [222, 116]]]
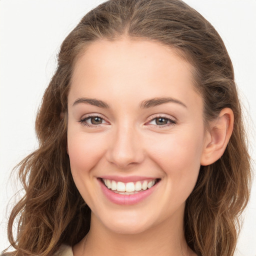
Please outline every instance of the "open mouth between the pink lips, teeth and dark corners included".
[[122, 182], [118, 180], [112, 180], [107, 178], [99, 178], [102, 184], [111, 190], [114, 193], [117, 194], [136, 194], [145, 190], [150, 189], [153, 187], [156, 183], [159, 182], [160, 178], [155, 179], [144, 179], [144, 180], [137, 180], [134, 182]]

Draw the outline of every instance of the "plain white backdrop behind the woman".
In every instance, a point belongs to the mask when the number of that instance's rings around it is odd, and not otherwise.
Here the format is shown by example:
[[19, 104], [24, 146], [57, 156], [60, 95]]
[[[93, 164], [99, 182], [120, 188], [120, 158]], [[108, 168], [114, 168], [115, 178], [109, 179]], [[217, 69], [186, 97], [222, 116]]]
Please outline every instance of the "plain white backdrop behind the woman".
[[[64, 37], [102, 0], [0, 0], [0, 250], [19, 188], [11, 169], [36, 146], [34, 120]], [[233, 61], [255, 160], [256, 0], [185, 0], [217, 29]], [[255, 165], [254, 165], [255, 166]], [[254, 168], [255, 169], [255, 168]], [[18, 197], [18, 196], [17, 196]], [[9, 202], [9, 203], [8, 203]], [[8, 204], [8, 207], [7, 207]], [[256, 255], [256, 188], [243, 214], [236, 256]]]

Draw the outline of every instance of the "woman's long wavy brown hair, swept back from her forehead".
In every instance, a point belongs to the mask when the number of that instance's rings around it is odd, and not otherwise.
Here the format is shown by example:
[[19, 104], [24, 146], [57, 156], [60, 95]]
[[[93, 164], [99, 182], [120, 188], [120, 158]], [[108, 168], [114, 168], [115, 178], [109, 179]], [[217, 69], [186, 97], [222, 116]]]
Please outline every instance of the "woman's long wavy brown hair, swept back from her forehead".
[[67, 94], [74, 63], [84, 47], [101, 38], [123, 36], [168, 45], [193, 65], [205, 123], [225, 107], [233, 110], [234, 128], [225, 152], [213, 164], [200, 167], [184, 215], [185, 238], [197, 255], [233, 255], [250, 181], [233, 67], [216, 30], [181, 0], [106, 1], [89, 11], [63, 41], [36, 118], [39, 148], [19, 164], [25, 195], [8, 223], [14, 255], [51, 255], [61, 243], [73, 245], [89, 230], [90, 209], [75, 187], [66, 154]]

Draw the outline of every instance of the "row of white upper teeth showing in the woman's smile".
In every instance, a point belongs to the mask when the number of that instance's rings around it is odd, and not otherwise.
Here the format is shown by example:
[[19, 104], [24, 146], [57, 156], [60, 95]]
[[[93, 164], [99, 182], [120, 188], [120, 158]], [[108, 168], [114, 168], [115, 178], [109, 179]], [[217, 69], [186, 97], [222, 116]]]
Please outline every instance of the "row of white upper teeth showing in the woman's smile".
[[155, 184], [155, 179], [123, 183], [121, 181], [103, 178], [103, 181], [107, 188], [111, 190], [117, 190], [119, 192], [134, 192], [140, 191], [141, 189], [146, 190]]

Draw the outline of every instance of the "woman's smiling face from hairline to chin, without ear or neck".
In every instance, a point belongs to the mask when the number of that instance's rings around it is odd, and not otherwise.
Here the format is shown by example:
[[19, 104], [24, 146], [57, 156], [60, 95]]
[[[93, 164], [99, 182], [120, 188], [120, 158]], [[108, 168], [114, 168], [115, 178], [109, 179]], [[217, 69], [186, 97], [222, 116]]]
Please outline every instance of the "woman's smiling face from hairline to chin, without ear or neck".
[[173, 49], [142, 40], [96, 41], [77, 60], [67, 148], [75, 185], [105, 228], [182, 223], [205, 147], [191, 72]]

